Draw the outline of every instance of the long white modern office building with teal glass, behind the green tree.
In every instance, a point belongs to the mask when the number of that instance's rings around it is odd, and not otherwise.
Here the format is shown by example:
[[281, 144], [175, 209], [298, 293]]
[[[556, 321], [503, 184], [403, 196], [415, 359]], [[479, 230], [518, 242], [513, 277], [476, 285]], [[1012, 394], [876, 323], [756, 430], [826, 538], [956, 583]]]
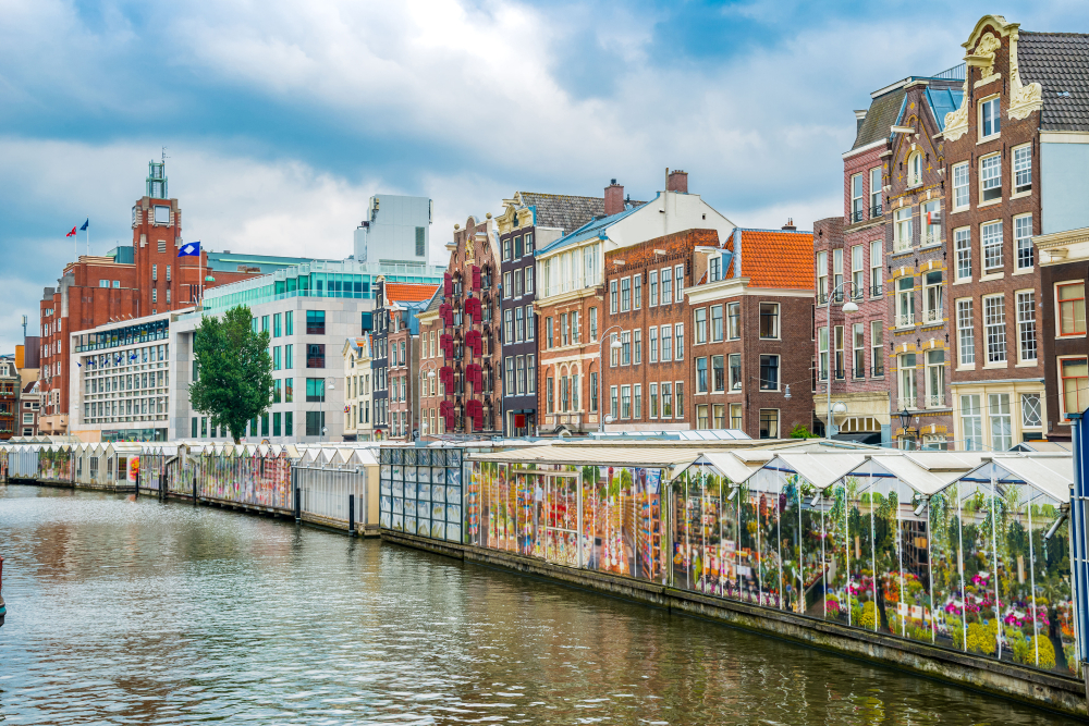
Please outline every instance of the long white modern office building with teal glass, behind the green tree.
[[[438, 284], [443, 268], [313, 261], [208, 291], [203, 309], [119, 321], [72, 335], [72, 432], [85, 441], [228, 441], [189, 404], [193, 336], [207, 315], [246, 305], [268, 331], [272, 401], [247, 442], [343, 441], [342, 346], [370, 329], [372, 280]], [[369, 371], [368, 371], [369, 372]]]

